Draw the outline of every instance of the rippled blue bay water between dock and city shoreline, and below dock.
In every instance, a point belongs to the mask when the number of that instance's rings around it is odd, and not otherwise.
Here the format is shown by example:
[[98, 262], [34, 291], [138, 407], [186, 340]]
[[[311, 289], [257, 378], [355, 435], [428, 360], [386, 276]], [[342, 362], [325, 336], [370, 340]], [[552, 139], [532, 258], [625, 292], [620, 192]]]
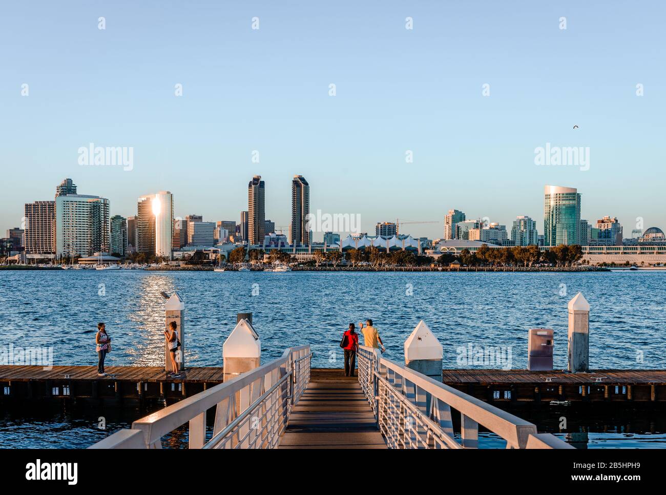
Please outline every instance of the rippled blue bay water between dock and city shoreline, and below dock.
[[[444, 345], [445, 368], [462, 367], [456, 349], [470, 343], [511, 346], [511, 367], [525, 368], [527, 329], [545, 327], [555, 330], [557, 369], [567, 365], [567, 302], [581, 291], [591, 305], [591, 368], [664, 368], [665, 282], [666, 272], [0, 271], [0, 346], [53, 346], [53, 364], [96, 364], [95, 328], [103, 321], [114, 343], [107, 364], [160, 366], [160, 292], [177, 290], [186, 303], [188, 366], [222, 366], [236, 312], [251, 311], [264, 362], [308, 342], [313, 366], [341, 367], [342, 332], [366, 318], [374, 320], [386, 356], [402, 360], [406, 336], [424, 319]], [[100, 435], [95, 428], [82, 434], [94, 418], [21, 414], [0, 416], [0, 446], [25, 446], [12, 440], [18, 432], [39, 438], [56, 430], [59, 446], [79, 446], [77, 438], [91, 444]], [[127, 414], [117, 427], [135, 419]], [[635, 432], [627, 438], [622, 428], [599, 438], [591, 432], [589, 446], [663, 444], [663, 429], [643, 430], [647, 439]]]

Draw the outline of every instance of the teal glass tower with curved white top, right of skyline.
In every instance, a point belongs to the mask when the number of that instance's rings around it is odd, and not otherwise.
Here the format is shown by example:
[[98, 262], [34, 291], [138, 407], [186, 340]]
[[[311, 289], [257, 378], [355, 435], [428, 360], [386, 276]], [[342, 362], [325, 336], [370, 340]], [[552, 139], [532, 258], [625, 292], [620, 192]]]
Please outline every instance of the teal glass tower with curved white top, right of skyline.
[[545, 246], [579, 244], [581, 195], [573, 187], [546, 186], [543, 201]]

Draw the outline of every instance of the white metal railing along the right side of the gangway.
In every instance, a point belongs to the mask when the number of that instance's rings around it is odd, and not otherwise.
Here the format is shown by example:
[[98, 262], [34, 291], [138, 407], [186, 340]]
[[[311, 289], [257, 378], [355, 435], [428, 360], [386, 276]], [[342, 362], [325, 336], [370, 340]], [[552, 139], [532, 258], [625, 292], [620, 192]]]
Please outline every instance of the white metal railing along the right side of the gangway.
[[[359, 346], [358, 381], [389, 448], [478, 448], [479, 425], [506, 448], [573, 448], [482, 400]], [[452, 409], [460, 412], [454, 433]], [[458, 440], [460, 438], [460, 440]]]

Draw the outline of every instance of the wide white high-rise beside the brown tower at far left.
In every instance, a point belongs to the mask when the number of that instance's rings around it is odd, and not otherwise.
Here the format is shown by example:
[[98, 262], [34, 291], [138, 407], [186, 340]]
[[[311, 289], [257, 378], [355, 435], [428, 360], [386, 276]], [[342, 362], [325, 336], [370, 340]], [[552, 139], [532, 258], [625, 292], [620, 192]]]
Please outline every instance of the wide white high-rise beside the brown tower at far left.
[[109, 200], [65, 195], [55, 199], [55, 255], [91, 256], [109, 252]]

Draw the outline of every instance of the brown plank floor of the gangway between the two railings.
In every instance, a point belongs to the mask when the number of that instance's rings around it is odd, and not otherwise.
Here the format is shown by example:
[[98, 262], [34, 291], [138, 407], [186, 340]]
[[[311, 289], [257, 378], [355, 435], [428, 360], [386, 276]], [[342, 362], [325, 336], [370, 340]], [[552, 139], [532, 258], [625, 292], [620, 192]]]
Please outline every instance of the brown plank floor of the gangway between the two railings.
[[358, 378], [314, 368], [280, 448], [387, 448]]

